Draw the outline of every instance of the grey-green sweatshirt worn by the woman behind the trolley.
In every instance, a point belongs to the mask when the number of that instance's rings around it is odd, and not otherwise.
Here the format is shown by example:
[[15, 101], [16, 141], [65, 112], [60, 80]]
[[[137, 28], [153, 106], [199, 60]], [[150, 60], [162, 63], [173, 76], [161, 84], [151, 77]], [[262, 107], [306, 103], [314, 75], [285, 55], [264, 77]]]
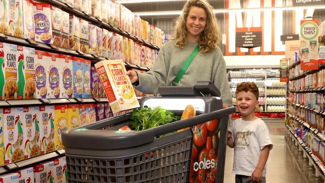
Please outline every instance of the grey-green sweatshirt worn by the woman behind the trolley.
[[[188, 42], [180, 49], [174, 46], [174, 42], [169, 40], [161, 47], [152, 70], [146, 73], [138, 72], [139, 84], [136, 89], [155, 94], [159, 86], [172, 85], [184, 61], [197, 45]], [[232, 105], [225, 62], [219, 47], [211, 52], [199, 52], [178, 82], [178, 86], [193, 86], [198, 80], [211, 80], [221, 92], [223, 105]]]

